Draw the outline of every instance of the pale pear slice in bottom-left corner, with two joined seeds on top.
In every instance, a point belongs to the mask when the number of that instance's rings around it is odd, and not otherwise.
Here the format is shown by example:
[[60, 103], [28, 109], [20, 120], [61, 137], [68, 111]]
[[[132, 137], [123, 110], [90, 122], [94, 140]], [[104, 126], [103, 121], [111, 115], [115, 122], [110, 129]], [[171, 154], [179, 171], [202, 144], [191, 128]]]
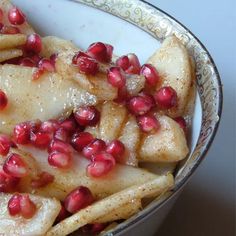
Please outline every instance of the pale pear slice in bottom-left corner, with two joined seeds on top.
[[56, 199], [30, 195], [30, 199], [37, 206], [36, 214], [31, 219], [11, 216], [7, 209], [11, 197], [11, 194], [0, 193], [0, 235], [2, 236], [43, 236], [51, 228], [61, 209], [61, 204]]

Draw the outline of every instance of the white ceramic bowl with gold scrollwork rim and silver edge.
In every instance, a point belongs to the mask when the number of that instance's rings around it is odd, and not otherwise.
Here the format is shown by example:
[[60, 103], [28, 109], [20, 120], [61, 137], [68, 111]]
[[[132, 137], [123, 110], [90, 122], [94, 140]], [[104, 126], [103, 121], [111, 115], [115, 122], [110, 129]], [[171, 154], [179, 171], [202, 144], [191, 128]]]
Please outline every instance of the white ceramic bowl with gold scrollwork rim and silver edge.
[[[108, 235], [152, 235], [174, 204], [186, 181], [206, 155], [217, 131], [222, 110], [222, 90], [215, 64], [201, 42], [165, 12], [137, 0], [15, 0], [42, 35], [56, 35], [87, 48], [96, 41], [115, 47], [116, 55], [135, 52], [145, 60], [160, 41], [175, 34], [196, 61], [198, 96], [194, 113], [191, 152], [176, 171], [171, 194]], [[87, 5], [86, 5], [87, 4]]]

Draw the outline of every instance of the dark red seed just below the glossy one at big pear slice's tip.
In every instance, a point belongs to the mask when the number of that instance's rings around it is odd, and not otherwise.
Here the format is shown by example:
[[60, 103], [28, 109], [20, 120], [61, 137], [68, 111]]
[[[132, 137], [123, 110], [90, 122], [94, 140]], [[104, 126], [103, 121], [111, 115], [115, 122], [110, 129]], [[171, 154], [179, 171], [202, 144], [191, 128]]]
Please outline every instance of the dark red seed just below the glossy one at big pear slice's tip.
[[88, 132], [79, 132], [75, 133], [72, 136], [71, 144], [74, 149], [78, 152], [81, 152], [84, 147], [93, 141], [93, 135]]

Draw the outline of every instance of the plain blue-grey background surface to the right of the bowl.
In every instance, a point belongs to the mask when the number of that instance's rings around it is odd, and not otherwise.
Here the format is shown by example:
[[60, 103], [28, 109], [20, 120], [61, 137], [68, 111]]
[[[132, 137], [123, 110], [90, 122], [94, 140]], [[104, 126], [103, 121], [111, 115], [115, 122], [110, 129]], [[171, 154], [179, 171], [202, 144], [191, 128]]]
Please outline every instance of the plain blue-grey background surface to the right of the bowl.
[[236, 1], [148, 2], [174, 16], [203, 42], [224, 86], [223, 116], [215, 141], [157, 235], [236, 235]]

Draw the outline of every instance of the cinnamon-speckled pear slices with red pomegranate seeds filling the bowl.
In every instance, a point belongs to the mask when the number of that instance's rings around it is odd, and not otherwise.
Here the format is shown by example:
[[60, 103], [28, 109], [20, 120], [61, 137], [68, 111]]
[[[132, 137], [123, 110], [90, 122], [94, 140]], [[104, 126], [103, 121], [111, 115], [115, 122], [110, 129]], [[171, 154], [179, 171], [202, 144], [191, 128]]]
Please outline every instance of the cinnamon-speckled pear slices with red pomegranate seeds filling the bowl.
[[142, 65], [41, 37], [8, 0], [0, 20], [0, 235], [99, 234], [173, 189], [196, 95], [175, 35]]

